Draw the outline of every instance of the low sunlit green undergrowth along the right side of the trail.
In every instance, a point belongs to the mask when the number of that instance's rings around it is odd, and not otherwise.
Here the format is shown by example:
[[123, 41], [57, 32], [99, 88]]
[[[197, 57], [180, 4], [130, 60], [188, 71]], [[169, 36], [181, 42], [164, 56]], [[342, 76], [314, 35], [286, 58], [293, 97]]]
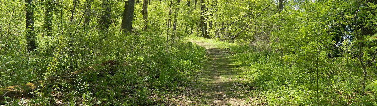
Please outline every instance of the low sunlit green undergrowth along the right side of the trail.
[[[348, 60], [351, 69], [348, 71], [343, 57], [316, 60], [310, 58], [313, 55], [309, 53], [289, 54], [288, 57], [259, 46], [200, 37], [191, 39], [213, 43], [232, 52], [234, 68], [242, 70], [238, 81], [249, 86], [247, 102], [269, 106], [376, 105], [374, 91], [357, 86], [361, 83], [362, 70], [355, 59]], [[307, 58], [300, 58], [302, 55]], [[313, 64], [315, 61], [319, 61], [319, 66]], [[362, 94], [364, 90], [366, 92]]]

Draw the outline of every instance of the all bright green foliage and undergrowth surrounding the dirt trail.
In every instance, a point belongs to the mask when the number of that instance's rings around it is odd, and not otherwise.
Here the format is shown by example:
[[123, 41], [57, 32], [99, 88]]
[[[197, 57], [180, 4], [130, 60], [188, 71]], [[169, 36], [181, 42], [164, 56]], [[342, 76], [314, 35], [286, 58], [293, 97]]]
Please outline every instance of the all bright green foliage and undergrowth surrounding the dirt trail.
[[[373, 0], [150, 0], [148, 20], [135, 4], [129, 34], [120, 31], [125, 0], [53, 1], [0, 1], [1, 89], [42, 82], [28, 91], [34, 97], [5, 96], [0, 105], [163, 105], [205, 59], [191, 41], [229, 49], [244, 70], [241, 82], [255, 87], [250, 95], [264, 105], [376, 105]], [[110, 25], [99, 31], [104, 1]], [[34, 12], [34, 51], [26, 49], [25, 9]]]

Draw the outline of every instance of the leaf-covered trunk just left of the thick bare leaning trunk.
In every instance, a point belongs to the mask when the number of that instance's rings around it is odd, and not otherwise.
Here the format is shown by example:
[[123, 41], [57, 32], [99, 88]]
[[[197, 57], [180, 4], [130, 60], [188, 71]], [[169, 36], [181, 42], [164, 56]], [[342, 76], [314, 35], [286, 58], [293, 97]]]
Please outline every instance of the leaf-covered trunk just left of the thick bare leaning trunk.
[[109, 0], [103, 0], [102, 8], [105, 9], [101, 13], [101, 19], [98, 22], [98, 29], [102, 32], [106, 32], [109, 29], [110, 25], [110, 13], [111, 13], [111, 6]]

